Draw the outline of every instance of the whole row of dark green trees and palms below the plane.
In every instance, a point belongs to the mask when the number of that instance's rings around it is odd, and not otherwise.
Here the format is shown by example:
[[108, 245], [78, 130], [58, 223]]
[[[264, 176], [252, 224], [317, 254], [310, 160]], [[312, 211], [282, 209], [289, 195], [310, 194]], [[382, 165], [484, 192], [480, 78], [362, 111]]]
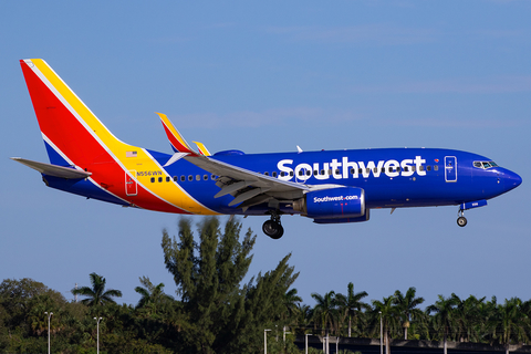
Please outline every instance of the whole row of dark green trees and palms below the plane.
[[[260, 272], [247, 283], [256, 236], [240, 237], [241, 223], [221, 226], [205, 218], [192, 231], [188, 219], [178, 222], [178, 236], [163, 232], [166, 269], [177, 285], [177, 299], [164, 292], [164, 283], [140, 277], [135, 291], [140, 300], [118, 305], [118, 290], [106, 289], [106, 280], [90, 274], [91, 287], [74, 290], [82, 302], [67, 302], [61, 293], [31, 279], [6, 279], [0, 283], [0, 353], [44, 353], [48, 346], [48, 315], [52, 352], [96, 353], [96, 321], [100, 351], [114, 353], [260, 353], [264, 330], [268, 352], [301, 353], [295, 335], [330, 334], [392, 339], [480, 342], [503, 345], [531, 339], [531, 300], [518, 298], [498, 303], [496, 296], [456, 294], [438, 300], [423, 312], [416, 289], [395, 291], [368, 305], [364, 291], [346, 295], [335, 291], [312, 293], [313, 308], [302, 303], [291, 288], [299, 273], [287, 254], [278, 266]], [[379, 314], [382, 312], [382, 314]], [[285, 341], [283, 332], [285, 334]], [[341, 345], [340, 345], [341, 347]], [[310, 348], [310, 353], [321, 353]], [[340, 351], [340, 353], [352, 353]]]

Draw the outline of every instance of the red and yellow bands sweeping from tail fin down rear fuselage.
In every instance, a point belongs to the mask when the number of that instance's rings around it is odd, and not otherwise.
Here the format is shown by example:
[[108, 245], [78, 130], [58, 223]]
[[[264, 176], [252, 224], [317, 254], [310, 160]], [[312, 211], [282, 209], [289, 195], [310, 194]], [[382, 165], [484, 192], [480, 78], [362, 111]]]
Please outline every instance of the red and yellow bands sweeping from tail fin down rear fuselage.
[[[140, 208], [216, 214], [176, 183], [140, 177], [138, 171], [169, 176], [145, 149], [117, 139], [43, 60], [22, 60], [21, 66], [43, 136], [69, 163], [92, 173], [92, 183]], [[126, 176], [137, 181], [134, 196], [126, 192]]]

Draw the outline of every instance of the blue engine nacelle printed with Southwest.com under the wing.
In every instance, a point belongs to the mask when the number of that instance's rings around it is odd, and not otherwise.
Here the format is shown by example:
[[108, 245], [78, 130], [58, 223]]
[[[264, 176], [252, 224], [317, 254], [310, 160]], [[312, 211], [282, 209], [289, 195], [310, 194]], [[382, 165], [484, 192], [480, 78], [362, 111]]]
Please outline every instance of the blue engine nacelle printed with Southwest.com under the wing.
[[358, 218], [365, 215], [365, 191], [357, 187], [314, 190], [294, 200], [293, 209], [313, 219]]

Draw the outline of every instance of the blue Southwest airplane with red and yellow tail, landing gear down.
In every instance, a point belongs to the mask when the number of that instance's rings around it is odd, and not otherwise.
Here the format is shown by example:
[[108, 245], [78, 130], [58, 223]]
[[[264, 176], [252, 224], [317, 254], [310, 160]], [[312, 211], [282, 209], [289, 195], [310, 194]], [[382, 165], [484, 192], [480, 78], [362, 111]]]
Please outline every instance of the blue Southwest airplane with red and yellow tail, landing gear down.
[[490, 158], [442, 148], [373, 148], [216, 154], [188, 145], [158, 113], [173, 154], [116, 138], [41, 59], [20, 61], [50, 164], [15, 162], [46, 186], [125, 207], [184, 215], [269, 216], [263, 232], [283, 236], [281, 216], [315, 223], [361, 222], [372, 209], [458, 206], [465, 210], [522, 183]]

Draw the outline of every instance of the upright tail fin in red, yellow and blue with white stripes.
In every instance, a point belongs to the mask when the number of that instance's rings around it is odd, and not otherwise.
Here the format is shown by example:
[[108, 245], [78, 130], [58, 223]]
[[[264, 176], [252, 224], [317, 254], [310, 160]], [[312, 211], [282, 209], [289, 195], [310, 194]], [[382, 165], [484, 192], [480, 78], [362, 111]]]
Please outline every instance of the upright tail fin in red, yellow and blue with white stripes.
[[20, 65], [51, 164], [85, 168], [135, 149], [118, 140], [45, 61]]

